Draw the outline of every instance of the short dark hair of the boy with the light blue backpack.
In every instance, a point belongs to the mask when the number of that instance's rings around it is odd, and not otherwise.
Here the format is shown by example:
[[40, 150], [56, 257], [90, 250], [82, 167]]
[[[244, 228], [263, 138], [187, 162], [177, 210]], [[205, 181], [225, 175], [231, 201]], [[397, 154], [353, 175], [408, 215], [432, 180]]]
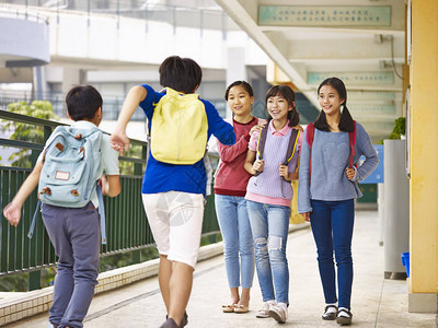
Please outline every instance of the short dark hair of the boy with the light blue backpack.
[[74, 86], [66, 96], [67, 112], [73, 120], [92, 119], [102, 103], [101, 94], [92, 85]]

